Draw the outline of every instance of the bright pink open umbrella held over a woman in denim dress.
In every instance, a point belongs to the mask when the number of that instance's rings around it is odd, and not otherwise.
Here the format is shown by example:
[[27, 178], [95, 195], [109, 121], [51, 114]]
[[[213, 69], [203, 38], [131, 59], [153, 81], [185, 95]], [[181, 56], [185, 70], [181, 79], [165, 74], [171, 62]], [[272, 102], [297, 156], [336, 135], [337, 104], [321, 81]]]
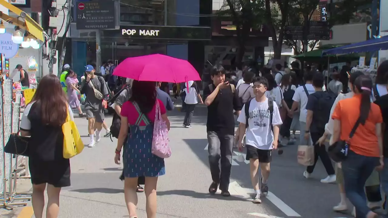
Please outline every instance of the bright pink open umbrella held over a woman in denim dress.
[[169, 83], [201, 80], [188, 61], [161, 54], [128, 57], [114, 69], [113, 75], [138, 81]]

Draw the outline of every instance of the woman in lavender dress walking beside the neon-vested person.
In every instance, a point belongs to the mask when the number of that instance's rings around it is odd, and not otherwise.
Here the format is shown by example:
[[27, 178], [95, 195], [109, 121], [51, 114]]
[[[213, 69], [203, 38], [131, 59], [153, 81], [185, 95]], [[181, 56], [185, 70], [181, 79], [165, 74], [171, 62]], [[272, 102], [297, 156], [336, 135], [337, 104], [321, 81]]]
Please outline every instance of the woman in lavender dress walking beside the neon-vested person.
[[[86, 116], [85, 113], [82, 112], [80, 100], [78, 99], [78, 93], [81, 93], [80, 90], [77, 88], [77, 82], [74, 80], [74, 71], [71, 69], [68, 70], [68, 73], [65, 75], [66, 80], [66, 87], [68, 87], [68, 99], [69, 99], [69, 106], [74, 109], [77, 108], [80, 112], [80, 117]], [[77, 80], [78, 81], [78, 80]]]

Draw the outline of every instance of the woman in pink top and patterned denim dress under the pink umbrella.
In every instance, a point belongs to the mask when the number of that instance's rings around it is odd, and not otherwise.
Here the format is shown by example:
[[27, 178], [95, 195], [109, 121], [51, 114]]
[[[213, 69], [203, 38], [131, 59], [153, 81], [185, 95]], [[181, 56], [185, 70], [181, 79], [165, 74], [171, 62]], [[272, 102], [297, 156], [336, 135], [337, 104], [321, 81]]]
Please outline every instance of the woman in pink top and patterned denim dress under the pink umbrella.
[[[130, 218], [137, 218], [137, 182], [145, 176], [147, 218], [156, 218], [156, 186], [158, 176], [165, 175], [164, 159], [151, 153], [155, 111], [159, 104], [161, 118], [170, 129], [166, 108], [156, 98], [155, 82], [137, 81], [132, 83], [132, 95], [121, 107], [121, 128], [115, 151], [114, 162], [120, 164], [123, 148], [124, 196]], [[130, 133], [128, 133], [130, 126]]]

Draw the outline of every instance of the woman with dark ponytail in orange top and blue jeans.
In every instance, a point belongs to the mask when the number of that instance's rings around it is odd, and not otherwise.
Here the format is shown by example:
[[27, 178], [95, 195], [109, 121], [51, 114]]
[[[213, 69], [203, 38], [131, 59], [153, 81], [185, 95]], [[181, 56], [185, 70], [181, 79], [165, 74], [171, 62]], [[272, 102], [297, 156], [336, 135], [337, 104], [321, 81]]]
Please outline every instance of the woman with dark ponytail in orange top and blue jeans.
[[[376, 166], [383, 162], [383, 118], [378, 105], [371, 103], [372, 80], [359, 76], [353, 84], [355, 95], [340, 100], [334, 109], [333, 142], [348, 140], [350, 131], [360, 118], [360, 125], [349, 140], [348, 157], [342, 162], [346, 196], [356, 208], [356, 217], [376, 218], [367, 207], [364, 186]], [[358, 109], [359, 108], [359, 109]]]

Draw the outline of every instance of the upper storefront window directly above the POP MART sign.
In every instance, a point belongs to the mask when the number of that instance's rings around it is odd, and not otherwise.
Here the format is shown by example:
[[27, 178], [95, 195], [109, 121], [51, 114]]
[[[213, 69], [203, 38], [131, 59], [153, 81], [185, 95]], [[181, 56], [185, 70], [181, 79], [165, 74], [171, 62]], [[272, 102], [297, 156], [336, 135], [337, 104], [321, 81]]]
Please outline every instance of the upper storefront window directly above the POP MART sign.
[[165, 1], [166, 0], [121, 0], [121, 24], [165, 25]]

